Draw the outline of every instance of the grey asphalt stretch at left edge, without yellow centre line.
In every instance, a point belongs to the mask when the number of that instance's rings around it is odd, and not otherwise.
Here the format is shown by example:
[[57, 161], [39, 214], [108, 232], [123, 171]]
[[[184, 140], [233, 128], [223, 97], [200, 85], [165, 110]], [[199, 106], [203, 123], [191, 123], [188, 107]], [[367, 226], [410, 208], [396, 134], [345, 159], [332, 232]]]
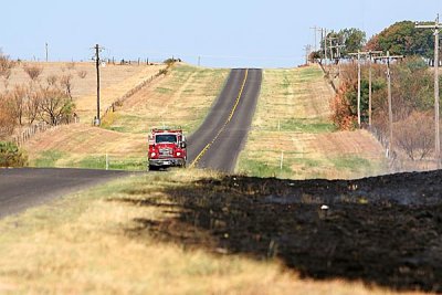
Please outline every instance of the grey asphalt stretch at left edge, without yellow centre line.
[[0, 169], [0, 219], [129, 173], [90, 169]]

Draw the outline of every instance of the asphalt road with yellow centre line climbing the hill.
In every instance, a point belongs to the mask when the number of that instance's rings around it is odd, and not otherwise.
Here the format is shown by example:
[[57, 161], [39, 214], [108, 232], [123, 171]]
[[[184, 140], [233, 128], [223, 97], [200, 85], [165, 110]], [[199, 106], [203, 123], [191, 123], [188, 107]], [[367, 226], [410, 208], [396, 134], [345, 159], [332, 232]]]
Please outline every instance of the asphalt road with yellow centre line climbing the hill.
[[199, 168], [233, 172], [252, 123], [262, 70], [232, 70], [200, 128], [188, 138], [188, 160]]

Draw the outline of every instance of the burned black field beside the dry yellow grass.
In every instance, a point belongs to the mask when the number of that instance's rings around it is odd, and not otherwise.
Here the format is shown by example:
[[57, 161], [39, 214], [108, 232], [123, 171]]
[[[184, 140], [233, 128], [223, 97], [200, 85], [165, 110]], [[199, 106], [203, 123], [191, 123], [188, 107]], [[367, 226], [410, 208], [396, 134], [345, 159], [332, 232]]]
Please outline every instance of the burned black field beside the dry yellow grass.
[[229, 176], [167, 188], [168, 200], [145, 193], [118, 201], [173, 217], [137, 219], [133, 236], [278, 259], [315, 280], [442, 293], [442, 171], [336, 181]]

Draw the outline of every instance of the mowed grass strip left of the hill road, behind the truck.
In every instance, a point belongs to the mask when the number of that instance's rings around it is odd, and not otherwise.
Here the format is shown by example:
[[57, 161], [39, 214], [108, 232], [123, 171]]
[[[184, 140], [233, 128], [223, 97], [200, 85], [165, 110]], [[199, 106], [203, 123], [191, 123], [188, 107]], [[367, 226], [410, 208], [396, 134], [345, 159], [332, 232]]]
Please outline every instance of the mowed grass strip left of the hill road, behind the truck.
[[104, 169], [107, 155], [109, 169], [146, 169], [148, 129], [182, 125], [187, 134], [191, 133], [228, 74], [228, 70], [176, 65], [105, 117], [103, 128], [83, 123], [33, 137], [25, 144], [31, 166]]

